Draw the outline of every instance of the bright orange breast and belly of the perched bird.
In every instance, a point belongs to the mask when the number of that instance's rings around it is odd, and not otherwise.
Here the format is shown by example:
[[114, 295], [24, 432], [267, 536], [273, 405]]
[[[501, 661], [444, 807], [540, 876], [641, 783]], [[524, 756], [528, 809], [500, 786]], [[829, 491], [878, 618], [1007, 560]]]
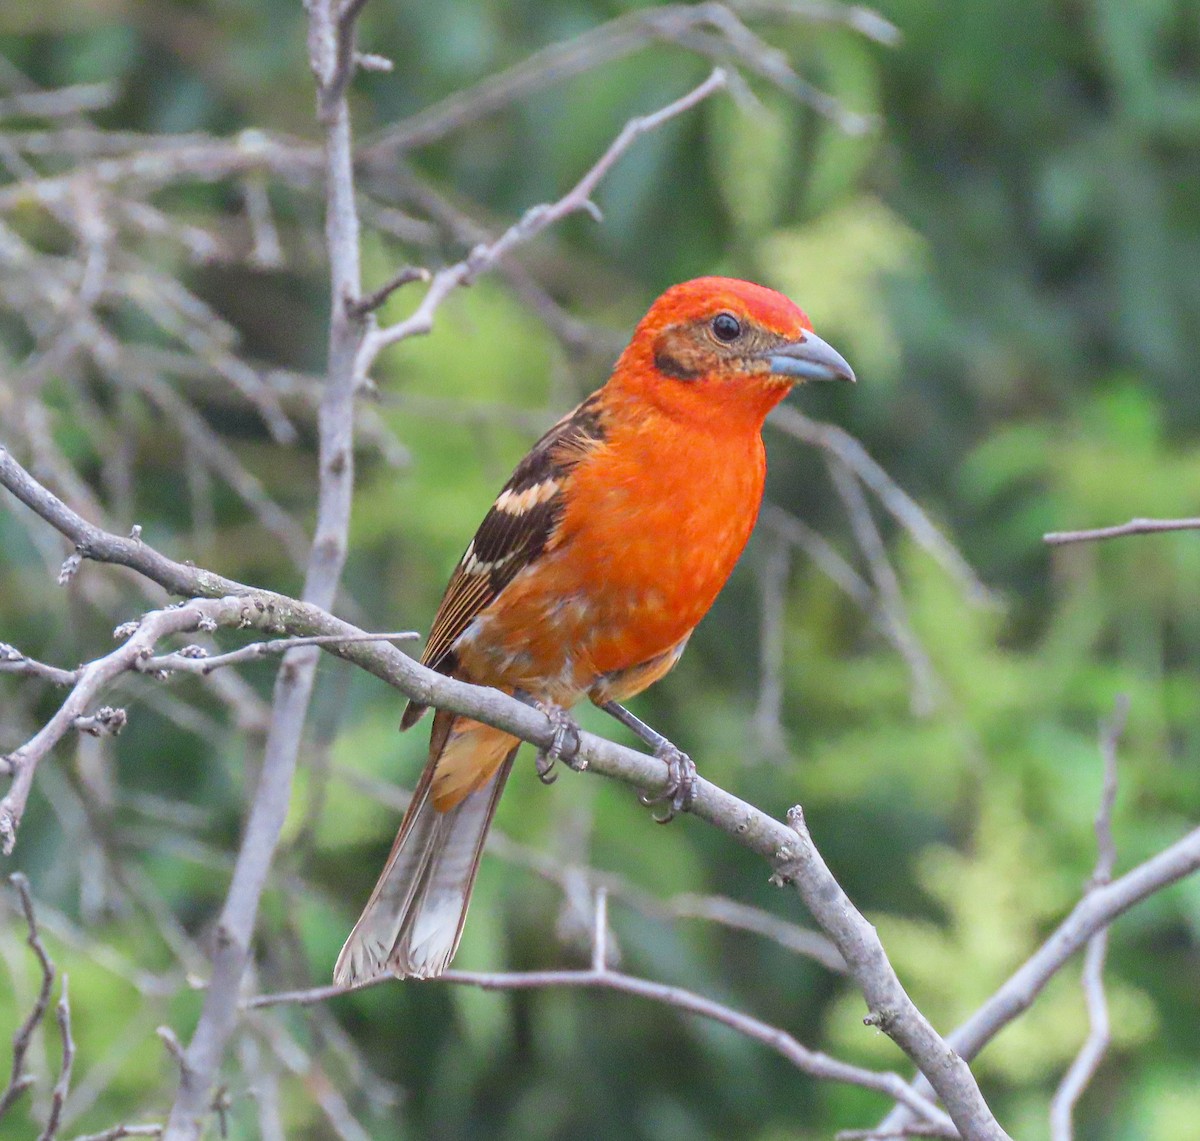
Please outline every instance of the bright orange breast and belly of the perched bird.
[[468, 672], [571, 704], [670, 650], [742, 554], [764, 473], [757, 431], [718, 438], [656, 410], [620, 424], [572, 472], [552, 548], [461, 648]]

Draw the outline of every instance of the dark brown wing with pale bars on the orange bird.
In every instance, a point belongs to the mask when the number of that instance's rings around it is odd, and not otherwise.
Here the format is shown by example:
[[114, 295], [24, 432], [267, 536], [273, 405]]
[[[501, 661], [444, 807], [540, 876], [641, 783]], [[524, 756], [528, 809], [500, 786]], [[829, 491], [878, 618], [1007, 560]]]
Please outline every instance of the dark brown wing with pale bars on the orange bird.
[[[452, 673], [454, 643], [517, 573], [545, 550], [563, 514], [566, 475], [605, 438], [600, 394], [558, 421], [522, 460], [479, 524], [442, 597], [422, 665]], [[409, 702], [402, 728], [426, 707]]]

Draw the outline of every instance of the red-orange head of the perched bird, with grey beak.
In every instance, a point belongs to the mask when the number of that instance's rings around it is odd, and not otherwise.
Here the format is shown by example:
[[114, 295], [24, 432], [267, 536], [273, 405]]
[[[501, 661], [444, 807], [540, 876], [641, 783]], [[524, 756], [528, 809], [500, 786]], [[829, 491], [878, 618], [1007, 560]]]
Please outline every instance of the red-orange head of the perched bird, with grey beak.
[[671, 410], [762, 418], [797, 384], [854, 380], [794, 302], [732, 277], [672, 286], [642, 318], [613, 380]]

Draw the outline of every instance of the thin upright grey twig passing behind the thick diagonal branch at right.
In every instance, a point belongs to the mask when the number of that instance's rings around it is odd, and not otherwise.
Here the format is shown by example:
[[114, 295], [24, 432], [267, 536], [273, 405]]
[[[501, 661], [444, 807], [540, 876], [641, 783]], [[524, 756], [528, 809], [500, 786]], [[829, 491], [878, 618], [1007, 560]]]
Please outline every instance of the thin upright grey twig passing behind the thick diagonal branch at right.
[[[1112, 809], [1117, 798], [1117, 744], [1129, 714], [1129, 698], [1117, 697], [1112, 716], [1100, 723], [1100, 756], [1104, 761], [1104, 787], [1096, 812], [1096, 870], [1090, 891], [1112, 882], [1117, 852], [1112, 839]], [[1109, 929], [1100, 927], [1087, 941], [1084, 955], [1084, 997], [1087, 1002], [1088, 1033], [1082, 1047], [1063, 1075], [1050, 1101], [1052, 1141], [1073, 1141], [1075, 1104], [1082, 1097], [1109, 1047], [1109, 1003], [1104, 993], [1104, 959], [1109, 949]]]

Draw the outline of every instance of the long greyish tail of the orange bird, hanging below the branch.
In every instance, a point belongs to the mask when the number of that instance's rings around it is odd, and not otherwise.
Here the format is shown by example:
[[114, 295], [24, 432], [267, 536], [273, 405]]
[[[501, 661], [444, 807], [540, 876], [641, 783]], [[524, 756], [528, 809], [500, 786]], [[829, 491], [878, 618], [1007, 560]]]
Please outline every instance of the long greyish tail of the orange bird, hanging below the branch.
[[433, 719], [430, 761], [334, 981], [428, 979], [450, 965], [516, 738], [454, 714]]

